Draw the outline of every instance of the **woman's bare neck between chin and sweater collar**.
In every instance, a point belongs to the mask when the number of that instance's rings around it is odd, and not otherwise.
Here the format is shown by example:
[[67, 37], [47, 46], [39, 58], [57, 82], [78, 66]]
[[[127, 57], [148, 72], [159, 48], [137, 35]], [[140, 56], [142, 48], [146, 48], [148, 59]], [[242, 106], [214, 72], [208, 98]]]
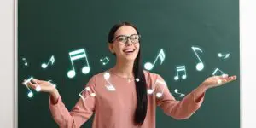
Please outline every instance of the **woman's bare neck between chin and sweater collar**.
[[134, 61], [117, 61], [116, 65], [112, 68], [112, 72], [119, 75], [122, 78], [134, 78], [133, 75], [133, 63]]

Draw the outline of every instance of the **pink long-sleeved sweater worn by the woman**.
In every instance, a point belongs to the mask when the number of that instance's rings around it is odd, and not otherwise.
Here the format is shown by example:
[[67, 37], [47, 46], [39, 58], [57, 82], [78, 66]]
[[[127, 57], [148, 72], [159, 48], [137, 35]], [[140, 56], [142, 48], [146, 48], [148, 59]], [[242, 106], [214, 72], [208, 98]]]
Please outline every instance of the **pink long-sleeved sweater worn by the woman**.
[[[94, 75], [86, 85], [90, 90], [82, 93], [84, 100], [80, 98], [70, 112], [61, 101], [61, 96], [55, 104], [49, 98], [49, 109], [55, 122], [61, 128], [78, 128], [95, 113], [93, 128], [138, 128], [133, 123], [137, 104], [135, 82], [129, 82], [111, 72], [109, 74], [108, 81], [104, 78], [104, 73]], [[200, 108], [204, 94], [200, 102], [195, 102], [194, 90], [182, 101], [176, 101], [160, 75], [148, 71], [144, 71], [144, 74], [147, 88], [154, 91], [148, 94], [148, 111], [140, 128], [155, 127], [156, 106], [160, 106], [164, 113], [174, 119], [188, 119]], [[109, 84], [113, 84], [115, 90], [108, 90]], [[157, 93], [162, 96], [157, 97]]]

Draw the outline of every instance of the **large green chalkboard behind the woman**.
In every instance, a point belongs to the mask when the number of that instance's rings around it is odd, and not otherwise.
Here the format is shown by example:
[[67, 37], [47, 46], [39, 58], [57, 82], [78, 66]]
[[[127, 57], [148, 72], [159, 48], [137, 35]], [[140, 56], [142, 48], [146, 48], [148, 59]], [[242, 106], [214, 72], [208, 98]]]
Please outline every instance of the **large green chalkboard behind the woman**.
[[[150, 72], [162, 76], [172, 95], [188, 94], [215, 69], [238, 76], [236, 82], [208, 90], [201, 108], [189, 119], [176, 120], [156, 111], [156, 127], [239, 128], [240, 56], [238, 0], [19, 0], [18, 1], [18, 126], [58, 127], [49, 112], [49, 95], [32, 90], [32, 98], [22, 85], [30, 76], [52, 80], [70, 110], [79, 92], [96, 73], [115, 64], [108, 51], [108, 31], [118, 22], [135, 24], [142, 35], [143, 64], [153, 62], [164, 50], [165, 60], [157, 60]], [[192, 49], [198, 48], [198, 50]], [[85, 49], [90, 73], [82, 73], [86, 61], [76, 62], [76, 75], [69, 52]], [[200, 50], [199, 50], [200, 49]], [[197, 53], [198, 57], [195, 55]], [[218, 53], [224, 56], [219, 57]], [[227, 57], [227, 54], [230, 56]], [[51, 56], [55, 62], [51, 65]], [[100, 59], [108, 56], [102, 65]], [[204, 68], [196, 68], [200, 58]], [[46, 68], [43, 63], [49, 62]], [[177, 66], [186, 67], [186, 79], [174, 79]], [[180, 68], [179, 68], [180, 69]], [[91, 127], [93, 117], [83, 127]]]

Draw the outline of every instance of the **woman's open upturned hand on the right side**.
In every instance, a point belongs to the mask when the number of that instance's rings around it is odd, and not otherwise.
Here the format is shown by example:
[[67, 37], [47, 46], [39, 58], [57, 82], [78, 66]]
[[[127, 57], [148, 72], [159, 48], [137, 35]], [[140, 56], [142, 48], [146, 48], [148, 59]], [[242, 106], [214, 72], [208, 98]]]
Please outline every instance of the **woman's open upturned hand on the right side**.
[[236, 80], [236, 76], [228, 76], [227, 74], [224, 74], [223, 76], [212, 76], [207, 78], [202, 85], [206, 86], [207, 89], [217, 87], [226, 83], [229, 83], [231, 81]]

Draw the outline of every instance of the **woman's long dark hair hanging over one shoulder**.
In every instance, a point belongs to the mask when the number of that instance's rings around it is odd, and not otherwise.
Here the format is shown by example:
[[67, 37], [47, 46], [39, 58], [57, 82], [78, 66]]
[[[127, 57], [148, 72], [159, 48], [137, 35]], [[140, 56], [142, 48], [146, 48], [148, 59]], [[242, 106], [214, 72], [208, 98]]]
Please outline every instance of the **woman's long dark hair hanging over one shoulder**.
[[[131, 23], [121, 22], [119, 24], [116, 24], [110, 29], [110, 32], [108, 33], [108, 43], [113, 43], [114, 34], [121, 26], [131, 26], [137, 31], [137, 27], [132, 25]], [[139, 34], [138, 31], [137, 34]], [[148, 95], [143, 67], [141, 65], [141, 49], [139, 49], [137, 58], [135, 59], [135, 62], [133, 64], [133, 74], [135, 78], [140, 79], [138, 82], [136, 82], [137, 108], [134, 114], [134, 123], [136, 125], [143, 125], [144, 119], [147, 115]]]

